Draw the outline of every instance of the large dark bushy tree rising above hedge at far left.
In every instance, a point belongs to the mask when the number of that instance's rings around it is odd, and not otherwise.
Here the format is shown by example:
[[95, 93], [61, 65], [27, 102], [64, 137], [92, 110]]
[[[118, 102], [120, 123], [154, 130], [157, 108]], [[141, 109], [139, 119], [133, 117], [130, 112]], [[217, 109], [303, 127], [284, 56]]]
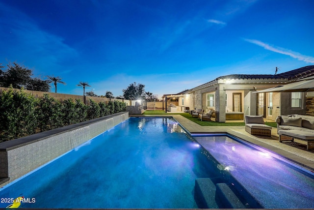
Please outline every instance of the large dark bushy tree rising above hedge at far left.
[[16, 62], [9, 63], [7, 66], [6, 71], [2, 72], [1, 70], [0, 83], [2, 83], [2, 86], [8, 88], [12, 85], [15, 89], [26, 87], [33, 75], [32, 71]]

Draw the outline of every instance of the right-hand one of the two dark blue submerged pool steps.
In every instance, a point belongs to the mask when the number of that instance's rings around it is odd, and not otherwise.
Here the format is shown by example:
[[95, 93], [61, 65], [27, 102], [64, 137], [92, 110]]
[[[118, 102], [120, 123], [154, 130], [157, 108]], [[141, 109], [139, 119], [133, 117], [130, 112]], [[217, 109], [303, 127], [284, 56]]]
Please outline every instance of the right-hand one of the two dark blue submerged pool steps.
[[216, 201], [222, 208], [231, 209], [245, 209], [246, 207], [242, 204], [239, 198], [231, 190], [226, 183], [216, 184]]

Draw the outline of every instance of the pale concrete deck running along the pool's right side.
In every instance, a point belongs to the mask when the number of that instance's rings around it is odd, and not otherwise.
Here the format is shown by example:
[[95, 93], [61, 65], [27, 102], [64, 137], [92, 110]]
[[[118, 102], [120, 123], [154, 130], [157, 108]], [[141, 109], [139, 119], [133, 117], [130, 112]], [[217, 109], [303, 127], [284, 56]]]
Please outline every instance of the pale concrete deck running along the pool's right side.
[[[249, 134], [245, 131], [245, 126], [201, 126], [181, 115], [148, 115], [143, 117], [173, 117], [190, 133], [228, 133], [266, 150], [273, 151], [286, 157], [291, 162], [298, 163], [301, 167], [314, 171], [314, 153], [280, 143], [277, 128], [271, 130], [271, 137], [262, 137]], [[295, 140], [295, 142], [305, 144], [304, 141]]]

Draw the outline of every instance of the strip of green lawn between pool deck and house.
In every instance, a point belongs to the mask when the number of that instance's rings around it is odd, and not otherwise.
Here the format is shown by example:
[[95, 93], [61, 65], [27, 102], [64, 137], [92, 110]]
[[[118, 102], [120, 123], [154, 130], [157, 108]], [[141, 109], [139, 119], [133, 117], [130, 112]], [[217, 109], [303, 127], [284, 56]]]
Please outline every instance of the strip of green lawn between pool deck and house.
[[[245, 125], [244, 122], [216, 122], [216, 121], [201, 121], [198, 118], [192, 118], [188, 113], [165, 113], [163, 110], [147, 110], [143, 115], [181, 115], [184, 118], [191, 120], [202, 126], [241, 126]], [[277, 127], [276, 122], [265, 122], [266, 125]]]

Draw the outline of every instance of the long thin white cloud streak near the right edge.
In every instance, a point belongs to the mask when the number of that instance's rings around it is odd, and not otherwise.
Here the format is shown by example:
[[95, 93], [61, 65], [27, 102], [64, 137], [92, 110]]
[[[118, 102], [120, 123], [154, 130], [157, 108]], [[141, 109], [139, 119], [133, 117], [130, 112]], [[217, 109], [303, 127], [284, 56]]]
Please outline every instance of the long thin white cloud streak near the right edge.
[[250, 42], [252, 44], [256, 44], [258, 46], [261, 46], [266, 50], [273, 51], [275, 53], [288, 55], [294, 59], [303, 60], [303, 61], [308, 62], [308, 63], [314, 63], [314, 57], [311, 57], [311, 56], [305, 56], [305, 55], [302, 55], [298, 52], [294, 52], [294, 51], [291, 51], [291, 50], [288, 50], [288, 49], [285, 49], [282, 47], [271, 46], [267, 43], [264, 43], [264, 42], [256, 40], [256, 39], [244, 39], [244, 40], [247, 42]]

